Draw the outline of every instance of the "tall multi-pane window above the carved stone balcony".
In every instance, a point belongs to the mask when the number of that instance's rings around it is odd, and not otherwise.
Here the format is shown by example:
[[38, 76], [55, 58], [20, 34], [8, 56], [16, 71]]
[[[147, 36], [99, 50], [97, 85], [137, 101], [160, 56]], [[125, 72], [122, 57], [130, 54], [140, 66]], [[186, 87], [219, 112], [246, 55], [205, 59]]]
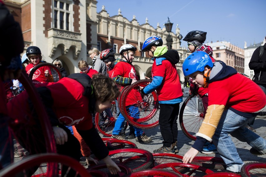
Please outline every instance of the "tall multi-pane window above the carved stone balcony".
[[61, 30], [70, 30], [71, 23], [71, 2], [66, 0], [54, 1], [53, 27]]

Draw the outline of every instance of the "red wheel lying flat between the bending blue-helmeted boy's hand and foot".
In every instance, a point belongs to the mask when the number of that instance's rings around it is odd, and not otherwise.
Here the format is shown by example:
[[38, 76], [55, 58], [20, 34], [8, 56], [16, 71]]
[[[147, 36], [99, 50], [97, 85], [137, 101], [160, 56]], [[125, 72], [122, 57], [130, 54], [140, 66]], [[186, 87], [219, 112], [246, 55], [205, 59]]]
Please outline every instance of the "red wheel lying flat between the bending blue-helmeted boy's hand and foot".
[[194, 157], [191, 163], [210, 169], [226, 169], [226, 164], [224, 163], [224, 160], [220, 157], [196, 156]]

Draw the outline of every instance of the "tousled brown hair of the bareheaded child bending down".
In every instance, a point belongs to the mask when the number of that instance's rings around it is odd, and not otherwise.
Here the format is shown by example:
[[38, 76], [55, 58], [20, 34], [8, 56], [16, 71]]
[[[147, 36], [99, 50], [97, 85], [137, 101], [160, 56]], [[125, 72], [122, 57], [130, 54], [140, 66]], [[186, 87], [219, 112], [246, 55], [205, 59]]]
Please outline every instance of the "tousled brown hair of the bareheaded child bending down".
[[95, 98], [100, 102], [114, 100], [120, 93], [115, 81], [101, 73], [93, 75], [91, 84], [95, 90]]

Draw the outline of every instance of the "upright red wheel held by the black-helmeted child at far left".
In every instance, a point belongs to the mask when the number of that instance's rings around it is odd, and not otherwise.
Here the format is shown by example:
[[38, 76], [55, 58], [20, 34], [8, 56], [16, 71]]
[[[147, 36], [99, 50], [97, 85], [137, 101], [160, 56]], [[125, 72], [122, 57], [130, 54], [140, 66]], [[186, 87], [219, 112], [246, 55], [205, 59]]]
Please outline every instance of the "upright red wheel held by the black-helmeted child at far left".
[[[39, 69], [41, 67], [46, 67], [46, 69], [49, 70], [50, 75], [44, 76], [44, 73], [42, 73]], [[53, 82], [53, 79], [51, 79], [52, 73], [57, 73], [59, 79], [62, 79], [62, 73], [61, 71], [57, 68], [56, 65], [53, 65], [52, 63], [40, 63], [32, 68], [32, 70], [28, 73], [29, 78], [32, 80], [35, 80], [39, 77], [39, 75], [43, 75], [42, 82]]]

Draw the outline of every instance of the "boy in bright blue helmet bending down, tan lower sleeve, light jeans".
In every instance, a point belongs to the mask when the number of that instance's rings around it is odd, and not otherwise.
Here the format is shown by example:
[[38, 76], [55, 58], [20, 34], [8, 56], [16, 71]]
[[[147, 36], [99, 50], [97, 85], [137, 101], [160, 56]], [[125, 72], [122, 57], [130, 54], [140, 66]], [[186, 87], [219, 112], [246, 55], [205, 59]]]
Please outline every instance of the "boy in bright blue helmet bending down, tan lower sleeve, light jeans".
[[239, 173], [244, 162], [229, 134], [247, 142], [252, 147], [250, 153], [266, 154], [266, 141], [245, 127], [266, 105], [266, 96], [257, 84], [222, 61], [213, 63], [203, 51], [194, 52], [185, 59], [183, 72], [198, 87], [209, 90], [204, 121], [194, 145], [183, 157], [184, 163], [191, 162], [207, 141], [213, 141], [226, 169]]

